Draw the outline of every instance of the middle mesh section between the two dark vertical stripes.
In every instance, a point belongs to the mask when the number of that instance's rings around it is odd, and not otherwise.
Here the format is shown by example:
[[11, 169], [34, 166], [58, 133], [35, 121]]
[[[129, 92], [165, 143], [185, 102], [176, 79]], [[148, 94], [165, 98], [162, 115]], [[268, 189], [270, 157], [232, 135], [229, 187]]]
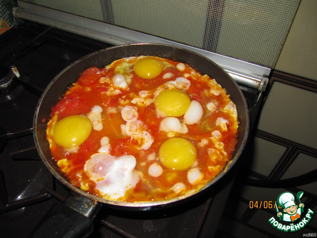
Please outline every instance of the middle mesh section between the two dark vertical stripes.
[[118, 25], [202, 47], [208, 1], [114, 0], [112, 3]]

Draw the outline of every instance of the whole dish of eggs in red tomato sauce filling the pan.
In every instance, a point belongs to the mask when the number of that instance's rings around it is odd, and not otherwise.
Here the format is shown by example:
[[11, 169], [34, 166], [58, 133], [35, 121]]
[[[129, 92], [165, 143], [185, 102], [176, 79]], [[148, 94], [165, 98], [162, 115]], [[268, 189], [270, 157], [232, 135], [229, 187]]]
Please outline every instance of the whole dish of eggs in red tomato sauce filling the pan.
[[89, 68], [51, 109], [47, 139], [74, 186], [122, 202], [197, 192], [230, 161], [237, 110], [186, 63], [128, 57]]

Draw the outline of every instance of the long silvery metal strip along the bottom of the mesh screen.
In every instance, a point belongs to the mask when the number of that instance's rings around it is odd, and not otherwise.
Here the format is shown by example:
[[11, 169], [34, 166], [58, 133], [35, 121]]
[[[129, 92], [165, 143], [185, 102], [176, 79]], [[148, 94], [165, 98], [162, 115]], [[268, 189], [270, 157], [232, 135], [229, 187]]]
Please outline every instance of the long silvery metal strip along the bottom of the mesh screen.
[[271, 69], [219, 55], [207, 50], [176, 43], [156, 36], [91, 20], [85, 17], [52, 10], [42, 6], [18, 1], [19, 8], [13, 9], [14, 17], [41, 23], [47, 26], [85, 36], [112, 45], [127, 43], [162, 43], [192, 50], [217, 63], [239, 84], [262, 90], [268, 81]]

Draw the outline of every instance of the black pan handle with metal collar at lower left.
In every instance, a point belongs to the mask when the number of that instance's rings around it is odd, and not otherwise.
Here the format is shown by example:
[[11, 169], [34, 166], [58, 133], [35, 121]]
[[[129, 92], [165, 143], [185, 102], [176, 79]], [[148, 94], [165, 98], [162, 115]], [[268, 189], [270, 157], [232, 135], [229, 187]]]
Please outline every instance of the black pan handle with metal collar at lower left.
[[71, 194], [63, 203], [55, 203], [29, 238], [87, 237], [94, 231], [94, 219], [101, 204], [79, 194]]

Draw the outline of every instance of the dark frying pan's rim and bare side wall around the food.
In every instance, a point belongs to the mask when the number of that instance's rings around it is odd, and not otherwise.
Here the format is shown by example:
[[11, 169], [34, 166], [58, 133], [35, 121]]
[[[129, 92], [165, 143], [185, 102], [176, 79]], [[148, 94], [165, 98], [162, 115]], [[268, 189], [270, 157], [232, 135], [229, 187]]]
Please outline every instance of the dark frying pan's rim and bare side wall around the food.
[[[207, 74], [212, 78], [215, 78], [217, 82], [222, 85], [223, 88], [226, 89], [227, 93], [230, 95], [231, 100], [236, 104], [237, 112], [238, 112], [238, 135], [237, 135], [237, 144], [236, 149], [231, 156], [231, 161], [228, 163], [225, 169], [212, 181], [208, 182], [199, 192], [188, 196], [176, 197], [173, 199], [158, 201], [158, 202], [115, 202], [106, 200], [100, 197], [96, 197], [94, 195], [88, 194], [82, 191], [79, 188], [71, 185], [68, 180], [59, 172], [56, 163], [51, 157], [49, 150], [49, 142], [46, 140], [46, 124], [50, 117], [51, 107], [54, 106], [58, 99], [66, 92], [68, 87], [74, 83], [78, 77], [81, 75], [85, 69], [90, 67], [100, 67], [112, 63], [114, 60], [121, 59], [124, 57], [131, 56], [158, 56], [161, 58], [170, 58], [174, 61], [188, 63], [191, 67], [196, 68], [202, 74]], [[46, 119], [46, 120], [43, 120]], [[84, 200], [84, 203], [93, 203], [93, 204], [109, 204], [114, 205], [117, 208], [123, 209], [138, 209], [138, 210], [149, 210], [162, 208], [166, 206], [171, 206], [173, 204], [184, 202], [188, 200], [190, 197], [195, 197], [199, 195], [199, 193], [207, 188], [210, 188], [215, 183], [217, 183], [226, 173], [232, 168], [235, 162], [238, 160], [241, 155], [245, 143], [247, 141], [247, 137], [249, 134], [249, 114], [247, 110], [247, 104], [243, 97], [243, 94], [237, 84], [232, 80], [232, 78], [221, 69], [216, 63], [212, 62], [208, 58], [201, 56], [195, 52], [190, 50], [185, 50], [182, 48], [178, 48], [175, 46], [164, 45], [164, 44], [156, 44], [156, 43], [136, 43], [136, 44], [126, 44], [120, 46], [114, 46], [107, 49], [96, 51], [90, 55], [87, 55], [80, 60], [72, 63], [60, 74], [58, 74], [53, 81], [48, 85], [48, 87], [43, 92], [34, 116], [34, 140], [36, 143], [36, 148], [38, 153], [49, 169], [49, 171], [64, 185], [70, 188], [72, 191], [73, 198], [67, 199], [67, 204], [74, 208], [77, 205], [77, 202], [72, 202], [73, 199], [75, 201]], [[74, 198], [75, 197], [75, 198]], [[78, 198], [79, 197], [79, 198]], [[82, 205], [78, 205], [79, 207], [85, 207]], [[89, 205], [90, 206], [90, 205]], [[87, 207], [87, 204], [86, 204]], [[75, 208], [75, 210], [81, 210]], [[93, 218], [96, 212], [89, 211], [88, 215], [85, 214], [85, 211], [80, 211], [81, 214], [84, 214], [90, 218]]]

